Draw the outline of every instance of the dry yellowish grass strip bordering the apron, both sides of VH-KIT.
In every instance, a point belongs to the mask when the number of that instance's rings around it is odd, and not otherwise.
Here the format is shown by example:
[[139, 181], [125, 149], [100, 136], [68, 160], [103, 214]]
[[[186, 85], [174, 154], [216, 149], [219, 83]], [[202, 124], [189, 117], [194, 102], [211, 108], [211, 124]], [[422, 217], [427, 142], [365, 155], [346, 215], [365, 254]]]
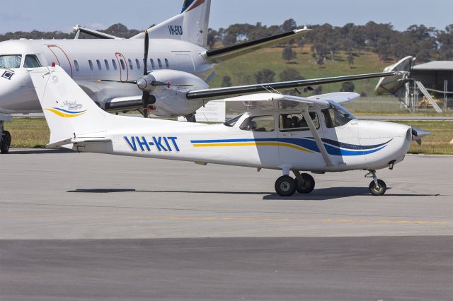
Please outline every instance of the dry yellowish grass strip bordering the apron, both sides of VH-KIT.
[[[398, 123], [431, 132], [430, 136], [423, 139], [422, 146], [414, 142], [409, 153], [453, 155], [453, 145], [449, 144], [453, 139], [453, 122], [398, 121]], [[5, 128], [13, 136], [11, 143], [13, 147], [35, 148], [49, 143], [50, 132], [44, 118], [15, 118], [13, 122], [7, 122]]]

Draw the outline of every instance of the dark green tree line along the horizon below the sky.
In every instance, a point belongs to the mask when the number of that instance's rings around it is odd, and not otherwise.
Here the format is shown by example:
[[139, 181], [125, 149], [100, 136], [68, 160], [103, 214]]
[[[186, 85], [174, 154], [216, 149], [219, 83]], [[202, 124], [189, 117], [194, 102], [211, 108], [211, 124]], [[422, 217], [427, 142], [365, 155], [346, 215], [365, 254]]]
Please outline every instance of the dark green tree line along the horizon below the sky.
[[[338, 52], [349, 54], [348, 61], [361, 51], [377, 53], [383, 61], [395, 61], [411, 55], [419, 62], [433, 60], [453, 60], [453, 24], [443, 30], [438, 30], [425, 25], [411, 25], [407, 30], [395, 30], [390, 23], [368, 22], [365, 25], [346, 24], [343, 27], [330, 24], [309, 25], [312, 29], [305, 37], [292, 40], [292, 45], [310, 45], [314, 61], [322, 64], [326, 59], [333, 60]], [[210, 29], [208, 45], [221, 47], [234, 45], [238, 42], [256, 40], [261, 37], [285, 33], [296, 28], [301, 28], [293, 19], [285, 20], [282, 25], [266, 26], [262, 23], [233, 24], [228, 28], [219, 30]], [[139, 30], [129, 29], [120, 23], [111, 25], [103, 33], [117, 37], [132, 37]], [[30, 33], [16, 32], [0, 35], [0, 41], [25, 39], [73, 39], [75, 33], [62, 33], [61, 31], [41, 32], [33, 30]], [[81, 35], [81, 38], [92, 38]], [[289, 52], [289, 50], [286, 50]], [[291, 53], [289, 59], [291, 59]]]

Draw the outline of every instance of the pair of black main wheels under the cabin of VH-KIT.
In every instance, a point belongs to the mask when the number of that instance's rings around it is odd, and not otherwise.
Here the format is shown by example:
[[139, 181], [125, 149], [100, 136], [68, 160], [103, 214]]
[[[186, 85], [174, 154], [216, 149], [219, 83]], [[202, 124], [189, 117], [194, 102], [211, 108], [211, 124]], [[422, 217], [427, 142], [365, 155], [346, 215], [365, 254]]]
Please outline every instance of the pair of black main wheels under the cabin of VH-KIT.
[[300, 194], [309, 194], [315, 186], [314, 178], [309, 174], [294, 171], [294, 179], [289, 175], [279, 177], [275, 182], [275, 191], [279, 196], [292, 196], [296, 191]]

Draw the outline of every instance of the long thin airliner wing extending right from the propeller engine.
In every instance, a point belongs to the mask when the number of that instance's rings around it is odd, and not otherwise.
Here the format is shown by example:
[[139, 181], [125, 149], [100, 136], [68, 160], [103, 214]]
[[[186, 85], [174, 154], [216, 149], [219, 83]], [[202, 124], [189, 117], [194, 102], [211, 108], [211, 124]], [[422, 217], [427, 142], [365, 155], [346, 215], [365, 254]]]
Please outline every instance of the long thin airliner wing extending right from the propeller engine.
[[[384, 76], [395, 76], [398, 72], [382, 72], [358, 74], [353, 76], [336, 76], [328, 78], [304, 79], [300, 81], [285, 81], [280, 83], [262, 83], [257, 85], [241, 85], [236, 87], [215, 88], [205, 90], [193, 90], [187, 93], [188, 100], [216, 100], [239, 95], [248, 95], [260, 92], [275, 92], [291, 90], [296, 88], [309, 87], [311, 85], [322, 85], [326, 83], [339, 83], [343, 81], [357, 81], [367, 78], [380, 78]], [[335, 100], [334, 100], [335, 101]]]

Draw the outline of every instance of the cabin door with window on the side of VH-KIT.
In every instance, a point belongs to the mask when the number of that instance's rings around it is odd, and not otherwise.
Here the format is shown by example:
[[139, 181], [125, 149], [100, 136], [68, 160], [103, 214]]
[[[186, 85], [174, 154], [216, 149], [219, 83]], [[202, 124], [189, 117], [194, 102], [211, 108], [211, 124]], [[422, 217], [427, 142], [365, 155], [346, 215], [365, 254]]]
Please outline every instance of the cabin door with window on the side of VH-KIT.
[[[319, 114], [310, 112], [310, 115], [319, 135], [322, 136]], [[311, 165], [324, 162], [302, 112], [278, 114], [278, 138], [281, 143], [279, 155], [282, 163], [302, 163], [309, 170]]]

